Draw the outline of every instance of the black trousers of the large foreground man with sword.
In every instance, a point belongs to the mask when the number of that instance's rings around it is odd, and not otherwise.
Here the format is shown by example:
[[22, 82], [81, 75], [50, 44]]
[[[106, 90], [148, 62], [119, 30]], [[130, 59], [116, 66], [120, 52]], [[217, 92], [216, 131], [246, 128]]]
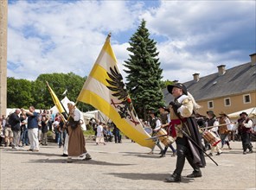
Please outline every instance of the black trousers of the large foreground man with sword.
[[189, 161], [190, 166], [194, 169], [194, 171], [200, 171], [200, 168], [197, 164], [193, 162], [193, 155], [189, 148], [189, 142], [188, 139], [183, 136], [176, 138], [176, 169], [174, 171], [174, 174], [182, 174], [182, 170], [185, 165], [185, 158], [187, 161]]

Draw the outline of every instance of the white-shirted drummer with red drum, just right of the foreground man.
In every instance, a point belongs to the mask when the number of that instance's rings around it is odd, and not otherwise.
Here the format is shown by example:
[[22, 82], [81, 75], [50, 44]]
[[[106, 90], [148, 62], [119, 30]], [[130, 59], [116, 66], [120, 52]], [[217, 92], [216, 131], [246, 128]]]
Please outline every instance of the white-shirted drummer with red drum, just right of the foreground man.
[[[208, 119], [207, 119], [207, 125], [208, 126], [214, 126], [213, 128], [209, 129], [209, 131], [213, 132], [216, 136], [219, 137], [219, 133], [218, 133], [218, 125], [219, 122], [216, 119], [216, 116], [214, 114], [214, 111], [206, 111], [207, 115], [208, 115]], [[218, 144], [216, 144], [216, 146], [211, 146], [211, 152], [210, 152], [210, 156], [214, 155], [214, 150], [217, 151], [216, 155], [221, 155], [222, 151], [221, 148], [219, 147]]]

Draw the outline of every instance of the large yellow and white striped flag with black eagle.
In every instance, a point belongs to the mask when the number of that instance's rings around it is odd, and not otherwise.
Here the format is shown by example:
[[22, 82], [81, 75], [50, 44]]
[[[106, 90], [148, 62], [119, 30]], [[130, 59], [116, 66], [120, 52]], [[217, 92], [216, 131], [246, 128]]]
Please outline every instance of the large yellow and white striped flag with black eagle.
[[77, 101], [93, 105], [115, 123], [125, 136], [141, 146], [152, 148], [154, 142], [145, 140], [150, 135], [145, 132], [125, 88], [123, 77], [112, 51], [110, 35], [101, 49], [91, 73], [80, 92]]

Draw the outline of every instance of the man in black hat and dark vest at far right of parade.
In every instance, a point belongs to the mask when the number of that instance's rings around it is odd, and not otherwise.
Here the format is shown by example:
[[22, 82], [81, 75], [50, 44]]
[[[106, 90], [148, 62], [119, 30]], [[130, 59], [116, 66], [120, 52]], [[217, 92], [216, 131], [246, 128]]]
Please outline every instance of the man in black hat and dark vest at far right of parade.
[[240, 113], [240, 118], [238, 119], [238, 133], [241, 136], [243, 154], [246, 155], [246, 150], [249, 149], [249, 153], [253, 153], [251, 144], [251, 130], [253, 127], [253, 121], [248, 117], [246, 112]]

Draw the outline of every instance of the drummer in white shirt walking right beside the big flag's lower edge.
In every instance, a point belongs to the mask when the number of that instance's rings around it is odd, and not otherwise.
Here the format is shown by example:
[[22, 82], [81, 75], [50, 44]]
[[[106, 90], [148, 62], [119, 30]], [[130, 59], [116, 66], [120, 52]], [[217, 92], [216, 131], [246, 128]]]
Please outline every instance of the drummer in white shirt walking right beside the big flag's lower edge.
[[[150, 127], [153, 130], [152, 136], [156, 136], [157, 130], [159, 130], [161, 128], [161, 125], [162, 125], [160, 119], [156, 115], [157, 115], [157, 111], [150, 111]], [[155, 149], [156, 145], [161, 150], [160, 155], [163, 154], [163, 148], [160, 145], [160, 141], [159, 141], [158, 138], [156, 138], [155, 145], [153, 146], [153, 148], [149, 152], [149, 155], [153, 155], [154, 154], [154, 149]]]

